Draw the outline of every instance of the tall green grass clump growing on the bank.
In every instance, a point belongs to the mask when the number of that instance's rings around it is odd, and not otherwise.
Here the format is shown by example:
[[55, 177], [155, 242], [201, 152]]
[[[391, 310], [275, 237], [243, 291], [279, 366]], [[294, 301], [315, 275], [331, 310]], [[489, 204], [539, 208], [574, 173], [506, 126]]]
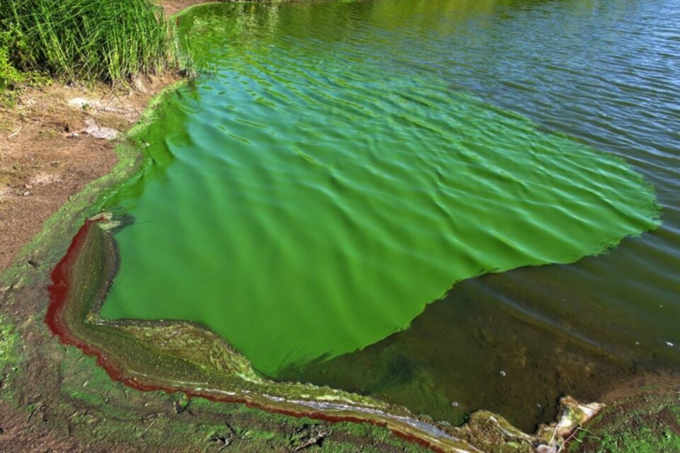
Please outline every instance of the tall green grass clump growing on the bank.
[[176, 61], [171, 25], [149, 0], [0, 0], [13, 67], [125, 81]]

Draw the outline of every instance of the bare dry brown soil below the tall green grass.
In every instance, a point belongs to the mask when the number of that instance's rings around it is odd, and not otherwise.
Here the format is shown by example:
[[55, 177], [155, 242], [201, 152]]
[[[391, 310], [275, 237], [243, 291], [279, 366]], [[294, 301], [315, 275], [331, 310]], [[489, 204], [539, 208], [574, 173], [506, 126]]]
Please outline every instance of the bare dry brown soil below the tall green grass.
[[15, 107], [0, 108], [0, 273], [70, 195], [115, 164], [115, 140], [93, 131], [125, 132], [176, 79], [154, 76], [129, 89], [28, 88]]

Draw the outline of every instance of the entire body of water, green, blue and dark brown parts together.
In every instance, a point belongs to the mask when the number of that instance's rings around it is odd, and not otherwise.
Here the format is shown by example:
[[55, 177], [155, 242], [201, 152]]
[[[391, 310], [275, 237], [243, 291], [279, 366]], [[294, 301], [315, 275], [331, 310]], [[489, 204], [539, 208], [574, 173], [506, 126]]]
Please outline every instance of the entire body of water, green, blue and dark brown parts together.
[[679, 23], [677, 0], [193, 9], [200, 76], [107, 203], [135, 223], [103, 316], [525, 430], [677, 367]]

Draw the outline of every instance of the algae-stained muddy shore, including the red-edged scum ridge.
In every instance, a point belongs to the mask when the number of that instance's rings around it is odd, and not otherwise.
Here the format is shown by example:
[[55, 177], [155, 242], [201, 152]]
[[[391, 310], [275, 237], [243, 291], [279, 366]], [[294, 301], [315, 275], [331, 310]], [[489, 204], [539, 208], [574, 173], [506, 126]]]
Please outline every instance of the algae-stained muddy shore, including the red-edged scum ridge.
[[[157, 100], [162, 102], [162, 96]], [[149, 120], [150, 117], [152, 110], [149, 110]], [[134, 132], [130, 134], [130, 139], [134, 140], [132, 135]], [[9, 352], [3, 352], [0, 362], [8, 365], [4, 368], [4, 377], [0, 379], [2, 408], [5, 410], [0, 418], [0, 427], [4, 428], [0, 437], [2, 448], [10, 445], [9, 436], [21, 439], [21, 435], [26, 436], [30, 432], [33, 432], [33, 442], [38, 442], [32, 444], [33, 447], [37, 445], [35, 450], [52, 448], [57, 451], [86, 451], [95, 445], [106, 451], [185, 451], [188, 445], [218, 449], [231, 444], [238, 451], [263, 448], [284, 451], [301, 447], [319, 436], [317, 442], [310, 445], [326, 439], [324, 449], [329, 451], [351, 448], [401, 451], [416, 448], [383, 437], [387, 431], [380, 428], [362, 428], [362, 425], [347, 423], [329, 425], [319, 420], [368, 421], [379, 426], [387, 425], [390, 430], [409, 440], [424, 442], [441, 451], [475, 451], [473, 446], [488, 452], [533, 451], [541, 442], [550, 448], [553, 430], [544, 429], [538, 437], [528, 436], [502, 421], [498, 422], [499, 418], [490, 413], [472, 415], [470, 423], [462, 428], [441, 425], [434, 428], [436, 431], [433, 434], [430, 428], [426, 428], [426, 425], [436, 425], [432, 420], [409, 415], [404, 408], [331, 389], [262, 382], [252, 374], [247, 361], [237, 352], [214, 334], [189, 323], [108, 323], [98, 319], [97, 307], [117, 265], [115, 243], [110, 231], [101, 228], [107, 223], [111, 225], [110, 220], [102, 220], [101, 217], [96, 221], [86, 219], [98, 214], [96, 200], [101, 193], [129, 178], [142, 163], [139, 151], [134, 146], [120, 147], [118, 153], [120, 160], [114, 171], [62, 207], [45, 225], [42, 233], [19, 254], [15, 265], [0, 277], [1, 309], [7, 313], [3, 321], [7, 326], [4, 331], [11, 332], [7, 337], [11, 340], [3, 345]], [[115, 228], [115, 225], [111, 226]], [[72, 250], [60, 264], [64, 273], [53, 277], [56, 281], [52, 283], [66, 284], [67, 275], [73, 275], [70, 269], [74, 266], [81, 268], [79, 275], [89, 275], [93, 280], [89, 280], [89, 285], [79, 286], [88, 294], [71, 294], [71, 314], [62, 318], [52, 316], [55, 321], [64, 321], [61, 328], [55, 328], [62, 338], [67, 338], [67, 344], [77, 344], [89, 354], [96, 355], [100, 362], [107, 365], [106, 369], [113, 377], [146, 392], [128, 390], [111, 382], [96, 367], [94, 360], [84, 358], [74, 348], [57, 345], [55, 338], [51, 338], [42, 325], [42, 314], [47, 306], [43, 288], [49, 283], [48, 270], [64, 256], [73, 237], [76, 239], [72, 243]], [[27, 267], [24, 263], [28, 256], [40, 257], [40, 266]], [[55, 301], [66, 302], [68, 292], [61, 295], [55, 295]], [[181, 332], [181, 335], [176, 335], [177, 332]], [[68, 338], [69, 333], [73, 338]], [[212, 347], [207, 351], [198, 351], [193, 348], [197, 343], [210, 343]], [[187, 350], [191, 351], [188, 355]], [[182, 355], [182, 359], [178, 358]], [[232, 361], [225, 362], [224, 356], [231, 357]], [[158, 369], [164, 371], [159, 372]], [[231, 376], [225, 378], [220, 372]], [[169, 379], [170, 376], [173, 379]], [[210, 385], [201, 384], [200, 389], [197, 389], [197, 384], [186, 384], [187, 378]], [[671, 380], [667, 389], [672, 389], [673, 385]], [[208, 390], [210, 388], [212, 390]], [[243, 393], [244, 390], [250, 393]], [[175, 393], [166, 394], [165, 391]], [[238, 396], [225, 397], [222, 393], [239, 391], [242, 394]], [[348, 404], [357, 406], [348, 409], [314, 403], [314, 394], [321, 401], [327, 400], [329, 395], [331, 398], [347, 398]], [[669, 398], [674, 396], [672, 391], [667, 394]], [[307, 418], [278, 418], [278, 415], [259, 410], [249, 411], [240, 404], [210, 403], [194, 396], [249, 403], [250, 406], [268, 411]], [[375, 406], [380, 412], [367, 413], [362, 405]], [[225, 411], [227, 415], [220, 411]], [[416, 426], [413, 422], [387, 417], [385, 413], [412, 417]], [[8, 414], [14, 414], [13, 418], [8, 418]], [[57, 421], [58, 418], [66, 421]], [[16, 420], [21, 420], [25, 425]], [[121, 428], [125, 426], [125, 420], [134, 420], [134, 431], [128, 435], [110, 431], [115, 431], [115, 427], [124, 431]], [[189, 428], [180, 430], [179, 424], [188, 424], [191, 429], [196, 429], [190, 435], [178, 434], [191, 431]], [[107, 425], [110, 426], [107, 428]], [[235, 425], [238, 425], [236, 429]], [[23, 428], [16, 428], [19, 426]], [[89, 430], [89, 426], [95, 429]], [[249, 426], [256, 427], [255, 433], [249, 430]], [[282, 428], [286, 426], [288, 428]], [[49, 434], [40, 434], [40, 430]], [[295, 435], [297, 430], [301, 430], [302, 434]], [[19, 434], [19, 431], [25, 432]], [[444, 432], [459, 440], [442, 436]], [[570, 430], [562, 432], [564, 437], [569, 437], [569, 434]], [[584, 435], [584, 432], [577, 434]], [[334, 438], [344, 443], [334, 444]], [[45, 447], [40, 445], [40, 439], [53, 443], [45, 444]], [[76, 444], [69, 442], [78, 442], [81, 446], [74, 447]], [[374, 447], [373, 443], [379, 447]], [[33, 451], [33, 447], [27, 446], [26, 449]], [[572, 450], [577, 451], [577, 448], [578, 445], [572, 442]]]

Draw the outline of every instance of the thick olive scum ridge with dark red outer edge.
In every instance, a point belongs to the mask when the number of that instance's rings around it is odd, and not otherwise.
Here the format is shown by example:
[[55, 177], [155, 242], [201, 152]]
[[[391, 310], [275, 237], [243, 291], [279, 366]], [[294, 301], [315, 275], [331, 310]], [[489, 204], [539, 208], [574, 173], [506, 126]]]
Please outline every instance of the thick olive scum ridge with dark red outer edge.
[[[405, 408], [371, 398], [310, 384], [275, 383], [259, 379], [245, 357], [203, 326], [174, 321], [101, 319], [98, 309], [118, 266], [113, 236], [99, 227], [106, 225], [106, 222], [110, 222], [110, 219], [101, 216], [86, 221], [74, 237], [69, 252], [53, 271], [46, 322], [62, 343], [77, 346], [86, 354], [96, 356], [98, 364], [106, 369], [112, 379], [143, 391], [181, 391], [188, 398], [199, 396], [212, 401], [244, 403], [249, 407], [295, 417], [371, 423], [384, 426], [399, 437], [427, 445], [438, 452], [480, 451], [465, 441], [474, 438], [467, 425], [460, 428], [439, 426], [433, 420], [410, 414]], [[90, 273], [94, 281], [78, 282], [71, 289], [74, 275], [83, 272]], [[80, 288], [86, 288], [86, 292]], [[130, 327], [143, 330], [144, 335], [129, 335]], [[162, 334], [158, 336], [157, 332], [163, 328], [173, 332], [172, 338], [163, 338]], [[106, 331], [97, 332], [100, 329]], [[111, 332], [112, 329], [116, 332]], [[231, 357], [224, 363], [203, 362], [201, 357], [193, 356], [191, 350], [184, 346], [193, 342], [182, 341], [178, 338], [179, 332], [186, 333], [187, 338], [200, 338], [205, 348], [221, 350], [223, 355]], [[141, 343], [140, 337], [143, 345], [137, 344]], [[159, 347], [160, 343], [163, 346]], [[155, 357], [163, 357], [167, 349], [173, 352], [173, 358], [180, 357], [185, 362], [197, 364], [203, 362], [203, 370], [178, 363], [169, 367], [163, 358], [155, 360]], [[125, 352], [120, 352], [123, 350]], [[149, 354], [148, 350], [152, 353]], [[216, 355], [219, 357], [222, 354]], [[211, 375], [210, 369], [206, 367], [215, 369], [218, 375]], [[192, 386], [192, 382], [210, 384]], [[571, 410], [577, 410], [577, 406], [572, 405]], [[515, 443], [518, 447], [523, 445], [518, 451], [531, 451], [531, 443], [541, 440], [516, 430], [499, 415], [479, 411], [473, 417], [482, 418], [484, 424], [488, 425], [489, 437], [493, 437], [492, 432], [505, 432], [506, 442]], [[550, 427], [549, 430], [554, 429]], [[540, 432], [542, 437], [545, 437], [545, 432], [547, 430]]]

